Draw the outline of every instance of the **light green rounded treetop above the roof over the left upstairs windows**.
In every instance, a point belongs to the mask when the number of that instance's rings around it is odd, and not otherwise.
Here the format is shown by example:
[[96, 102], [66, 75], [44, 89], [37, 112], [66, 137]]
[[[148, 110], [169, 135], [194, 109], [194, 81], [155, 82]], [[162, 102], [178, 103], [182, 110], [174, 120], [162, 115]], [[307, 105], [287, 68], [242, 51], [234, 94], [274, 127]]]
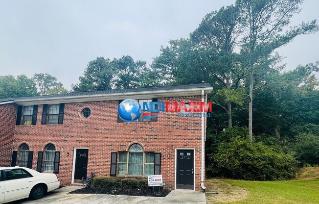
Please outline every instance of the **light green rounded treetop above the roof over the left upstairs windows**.
[[47, 73], [35, 74], [32, 79], [36, 83], [36, 87], [40, 95], [68, 93], [68, 90], [63, 87], [61, 82], [57, 81], [56, 77]]

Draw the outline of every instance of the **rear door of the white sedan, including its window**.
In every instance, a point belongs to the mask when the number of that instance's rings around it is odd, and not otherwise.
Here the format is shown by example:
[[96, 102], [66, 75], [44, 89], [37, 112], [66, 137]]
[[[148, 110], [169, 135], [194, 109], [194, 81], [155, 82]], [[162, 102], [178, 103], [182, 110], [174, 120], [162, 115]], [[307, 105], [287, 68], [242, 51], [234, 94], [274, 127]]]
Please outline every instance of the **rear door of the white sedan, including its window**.
[[4, 201], [12, 201], [29, 196], [34, 178], [24, 169], [6, 169], [3, 171], [4, 179]]

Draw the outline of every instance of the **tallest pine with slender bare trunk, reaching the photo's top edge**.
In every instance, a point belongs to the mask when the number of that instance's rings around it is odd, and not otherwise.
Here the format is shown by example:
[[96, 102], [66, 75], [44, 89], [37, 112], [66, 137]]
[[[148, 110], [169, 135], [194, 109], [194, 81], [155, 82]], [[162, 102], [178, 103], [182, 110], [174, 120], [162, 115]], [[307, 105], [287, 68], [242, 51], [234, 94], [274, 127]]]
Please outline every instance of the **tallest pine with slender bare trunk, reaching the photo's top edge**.
[[[274, 50], [301, 34], [318, 30], [316, 20], [290, 27], [291, 18], [300, 11], [302, 0], [237, 0], [241, 24], [245, 26], [241, 66], [248, 71], [249, 134], [252, 140], [253, 91], [274, 81], [271, 77], [280, 57]], [[284, 29], [286, 31], [284, 31]], [[274, 70], [273, 70], [274, 69]]]

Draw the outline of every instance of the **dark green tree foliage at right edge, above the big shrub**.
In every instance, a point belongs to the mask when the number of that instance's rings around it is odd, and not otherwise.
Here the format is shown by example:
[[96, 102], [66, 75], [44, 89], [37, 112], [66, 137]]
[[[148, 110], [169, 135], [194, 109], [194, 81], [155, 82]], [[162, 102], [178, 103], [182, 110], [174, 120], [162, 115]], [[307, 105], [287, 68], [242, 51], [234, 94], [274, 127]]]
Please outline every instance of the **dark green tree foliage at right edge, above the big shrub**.
[[255, 94], [255, 134], [266, 133], [274, 135], [278, 142], [289, 141], [299, 133], [294, 128], [319, 124], [319, 84], [313, 79], [317, 69], [318, 64], [298, 66]]

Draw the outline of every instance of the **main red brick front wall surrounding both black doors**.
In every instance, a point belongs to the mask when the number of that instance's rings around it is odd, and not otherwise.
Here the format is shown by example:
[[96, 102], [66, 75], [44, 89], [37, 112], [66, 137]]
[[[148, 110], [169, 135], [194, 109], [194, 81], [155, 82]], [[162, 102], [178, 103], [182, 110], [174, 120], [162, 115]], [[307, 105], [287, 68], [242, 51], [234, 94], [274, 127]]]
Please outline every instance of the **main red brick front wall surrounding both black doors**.
[[[199, 102], [201, 96], [160, 98], [163, 101]], [[118, 101], [66, 103], [62, 125], [41, 125], [43, 106], [39, 105], [36, 126], [17, 126], [13, 150], [27, 143], [34, 151], [33, 169], [36, 169], [38, 151], [48, 143], [61, 151], [61, 184], [71, 183], [74, 148], [89, 148], [88, 176], [109, 176], [111, 153], [127, 151], [131, 144], [139, 143], [144, 151], [162, 153], [161, 174], [166, 187], [175, 185], [175, 149], [195, 149], [195, 185], [200, 190], [201, 180], [201, 118], [178, 118], [176, 113], [158, 117], [157, 122], [117, 123]], [[91, 108], [91, 116], [84, 118], [81, 110]], [[160, 113], [161, 115], [166, 113]], [[168, 157], [170, 154], [170, 157]]]

